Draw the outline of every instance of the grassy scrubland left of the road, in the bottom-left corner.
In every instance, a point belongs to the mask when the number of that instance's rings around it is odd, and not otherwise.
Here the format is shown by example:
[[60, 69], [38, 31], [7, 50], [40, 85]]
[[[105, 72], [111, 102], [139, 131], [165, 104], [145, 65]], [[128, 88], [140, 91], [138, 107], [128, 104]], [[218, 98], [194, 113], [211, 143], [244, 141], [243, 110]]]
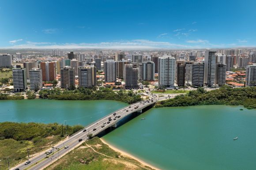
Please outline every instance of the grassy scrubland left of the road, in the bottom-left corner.
[[27, 148], [32, 155], [50, 148], [51, 144], [56, 144], [60, 140], [62, 140], [60, 136], [42, 138], [35, 143], [29, 140], [0, 140], [0, 170], [8, 170], [8, 157], [10, 157], [10, 167], [13, 167], [27, 159]]

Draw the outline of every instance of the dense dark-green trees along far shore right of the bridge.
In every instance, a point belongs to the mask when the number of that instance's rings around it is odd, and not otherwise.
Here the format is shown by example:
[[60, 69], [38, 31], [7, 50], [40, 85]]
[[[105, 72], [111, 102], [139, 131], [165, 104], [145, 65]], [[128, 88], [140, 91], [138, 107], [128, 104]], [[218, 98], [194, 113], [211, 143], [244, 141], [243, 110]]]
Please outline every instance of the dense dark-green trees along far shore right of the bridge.
[[230, 88], [224, 85], [219, 89], [205, 91], [198, 88], [188, 94], [173, 99], [159, 101], [155, 107], [195, 106], [195, 105], [243, 105], [248, 109], [256, 108], [256, 87]]

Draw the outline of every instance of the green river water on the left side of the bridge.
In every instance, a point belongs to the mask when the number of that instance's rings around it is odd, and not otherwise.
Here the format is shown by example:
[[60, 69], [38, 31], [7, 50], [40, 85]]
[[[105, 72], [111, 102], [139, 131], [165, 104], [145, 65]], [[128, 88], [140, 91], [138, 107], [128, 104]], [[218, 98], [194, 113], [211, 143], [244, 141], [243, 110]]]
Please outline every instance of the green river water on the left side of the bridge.
[[0, 122], [40, 122], [86, 126], [127, 106], [113, 100], [0, 100]]

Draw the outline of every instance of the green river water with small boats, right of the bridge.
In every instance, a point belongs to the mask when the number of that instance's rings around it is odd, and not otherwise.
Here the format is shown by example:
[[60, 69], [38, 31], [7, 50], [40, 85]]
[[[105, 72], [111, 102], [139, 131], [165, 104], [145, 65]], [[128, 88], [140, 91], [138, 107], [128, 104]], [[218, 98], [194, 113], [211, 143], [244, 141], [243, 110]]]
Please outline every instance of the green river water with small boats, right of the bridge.
[[255, 170], [256, 110], [240, 108], [152, 108], [103, 138], [164, 170]]

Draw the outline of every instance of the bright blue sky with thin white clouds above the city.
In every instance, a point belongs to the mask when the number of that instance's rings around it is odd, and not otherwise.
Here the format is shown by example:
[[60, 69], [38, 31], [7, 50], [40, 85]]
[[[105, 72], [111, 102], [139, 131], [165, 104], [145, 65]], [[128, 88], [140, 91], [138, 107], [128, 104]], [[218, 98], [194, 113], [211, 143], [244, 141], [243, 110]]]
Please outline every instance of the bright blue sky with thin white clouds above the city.
[[0, 48], [256, 46], [255, 0], [1, 0]]

